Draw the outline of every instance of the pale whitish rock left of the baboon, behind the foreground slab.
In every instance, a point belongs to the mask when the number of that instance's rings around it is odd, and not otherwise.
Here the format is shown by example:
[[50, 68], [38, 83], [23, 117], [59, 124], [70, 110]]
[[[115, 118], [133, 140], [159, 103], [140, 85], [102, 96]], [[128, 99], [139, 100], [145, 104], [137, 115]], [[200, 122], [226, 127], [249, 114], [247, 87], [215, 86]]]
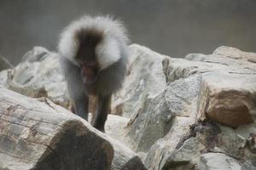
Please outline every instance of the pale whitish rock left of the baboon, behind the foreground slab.
[[45, 48], [35, 47], [27, 52], [9, 73], [5, 87], [33, 98], [47, 97], [66, 108], [70, 105], [58, 54]]

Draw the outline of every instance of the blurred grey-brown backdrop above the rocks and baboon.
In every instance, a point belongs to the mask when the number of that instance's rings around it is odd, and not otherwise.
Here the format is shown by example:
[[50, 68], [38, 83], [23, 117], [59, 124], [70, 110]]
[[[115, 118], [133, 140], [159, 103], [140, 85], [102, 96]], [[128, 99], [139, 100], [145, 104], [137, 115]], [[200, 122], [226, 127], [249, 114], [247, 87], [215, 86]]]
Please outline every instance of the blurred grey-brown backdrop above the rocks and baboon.
[[1, 0], [0, 55], [16, 65], [34, 46], [55, 50], [83, 14], [113, 14], [132, 43], [172, 57], [221, 45], [256, 52], [256, 0]]

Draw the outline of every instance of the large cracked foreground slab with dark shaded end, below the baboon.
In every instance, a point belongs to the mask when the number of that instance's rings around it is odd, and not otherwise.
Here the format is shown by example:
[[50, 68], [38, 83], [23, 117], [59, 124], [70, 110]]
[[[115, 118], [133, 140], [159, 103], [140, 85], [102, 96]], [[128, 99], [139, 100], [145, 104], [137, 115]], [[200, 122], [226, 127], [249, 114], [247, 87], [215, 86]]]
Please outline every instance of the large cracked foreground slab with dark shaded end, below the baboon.
[[0, 94], [0, 169], [145, 169], [134, 151], [49, 99]]

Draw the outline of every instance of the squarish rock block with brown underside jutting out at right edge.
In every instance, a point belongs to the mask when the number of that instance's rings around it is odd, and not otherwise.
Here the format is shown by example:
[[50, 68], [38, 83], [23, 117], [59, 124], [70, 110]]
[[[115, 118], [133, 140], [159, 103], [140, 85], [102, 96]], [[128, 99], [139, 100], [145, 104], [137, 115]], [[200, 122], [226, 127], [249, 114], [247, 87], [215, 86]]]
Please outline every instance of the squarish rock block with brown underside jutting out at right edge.
[[[239, 80], [239, 81], [238, 81]], [[247, 83], [245, 83], [247, 82]], [[230, 127], [254, 122], [256, 75], [206, 73], [201, 90], [201, 111], [207, 118]]]

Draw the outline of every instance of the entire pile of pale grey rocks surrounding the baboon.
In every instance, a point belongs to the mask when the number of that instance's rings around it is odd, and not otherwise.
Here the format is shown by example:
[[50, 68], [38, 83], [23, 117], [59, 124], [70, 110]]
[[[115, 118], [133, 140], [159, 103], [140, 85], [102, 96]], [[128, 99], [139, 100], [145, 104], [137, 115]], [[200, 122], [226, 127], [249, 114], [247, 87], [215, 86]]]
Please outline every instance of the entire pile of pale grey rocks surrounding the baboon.
[[58, 54], [33, 48], [0, 71], [0, 169], [256, 169], [256, 54], [130, 49], [106, 134], [59, 106]]

